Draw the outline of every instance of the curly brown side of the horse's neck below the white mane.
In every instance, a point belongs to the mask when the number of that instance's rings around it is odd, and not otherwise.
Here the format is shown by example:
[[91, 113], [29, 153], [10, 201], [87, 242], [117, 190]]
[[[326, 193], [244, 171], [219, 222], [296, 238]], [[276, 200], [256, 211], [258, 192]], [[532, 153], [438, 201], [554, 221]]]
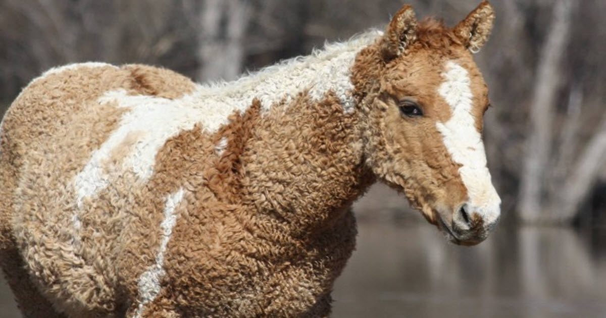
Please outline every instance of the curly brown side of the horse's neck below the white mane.
[[295, 230], [322, 227], [373, 181], [358, 113], [307, 96], [259, 116], [241, 156], [245, 202]]

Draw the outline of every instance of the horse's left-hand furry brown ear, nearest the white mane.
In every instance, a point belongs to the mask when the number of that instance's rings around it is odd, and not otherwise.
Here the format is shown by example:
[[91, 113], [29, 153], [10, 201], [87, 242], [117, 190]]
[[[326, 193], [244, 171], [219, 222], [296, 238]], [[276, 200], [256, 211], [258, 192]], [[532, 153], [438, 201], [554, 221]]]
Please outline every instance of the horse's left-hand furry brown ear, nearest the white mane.
[[415, 11], [404, 5], [391, 19], [381, 43], [381, 53], [385, 61], [402, 54], [416, 39], [417, 21]]

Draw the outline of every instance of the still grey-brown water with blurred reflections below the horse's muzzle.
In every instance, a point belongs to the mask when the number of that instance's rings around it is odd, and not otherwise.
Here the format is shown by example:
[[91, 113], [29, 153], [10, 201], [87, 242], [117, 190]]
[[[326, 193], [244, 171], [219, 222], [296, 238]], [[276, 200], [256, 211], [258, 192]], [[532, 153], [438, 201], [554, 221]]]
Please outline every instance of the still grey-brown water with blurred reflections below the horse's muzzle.
[[334, 317], [606, 317], [606, 232], [501, 227], [475, 247], [360, 222]]

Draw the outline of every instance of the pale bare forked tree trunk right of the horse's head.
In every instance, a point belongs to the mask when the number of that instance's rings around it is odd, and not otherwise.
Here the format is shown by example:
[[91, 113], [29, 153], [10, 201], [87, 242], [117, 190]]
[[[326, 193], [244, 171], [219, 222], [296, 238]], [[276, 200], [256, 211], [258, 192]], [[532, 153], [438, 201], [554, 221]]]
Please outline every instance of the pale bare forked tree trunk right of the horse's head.
[[[527, 223], [571, 222], [598, 181], [599, 170], [606, 164], [604, 111], [601, 111], [601, 123], [587, 143], [580, 143], [578, 139], [579, 128], [586, 121], [581, 116], [584, 93], [581, 84], [566, 80], [563, 70], [573, 13], [573, 2], [556, 2], [539, 58], [519, 188], [519, 216]], [[564, 116], [558, 116], [557, 98], [562, 85], [572, 87]]]

